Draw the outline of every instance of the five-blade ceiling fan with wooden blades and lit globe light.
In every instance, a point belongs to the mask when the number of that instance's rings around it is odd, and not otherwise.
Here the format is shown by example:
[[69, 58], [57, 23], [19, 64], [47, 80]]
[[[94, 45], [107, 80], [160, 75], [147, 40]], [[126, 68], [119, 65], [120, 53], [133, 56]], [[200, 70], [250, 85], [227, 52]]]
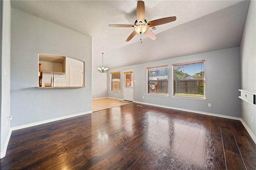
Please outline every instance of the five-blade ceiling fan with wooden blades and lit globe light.
[[129, 37], [126, 39], [126, 41], [130, 41], [136, 33], [139, 33], [140, 35], [142, 33], [145, 33], [148, 37], [151, 39], [156, 39], [156, 35], [148, 29], [148, 27], [156, 26], [156, 25], [162, 25], [164, 23], [169, 23], [176, 20], [176, 16], [173, 17], [166, 17], [166, 18], [160, 18], [158, 20], [153, 20], [147, 22], [145, 20], [145, 5], [143, 1], [137, 2], [137, 20], [135, 21], [134, 25], [124, 25], [124, 24], [111, 24], [108, 25], [109, 27], [134, 27], [134, 31], [129, 35]]

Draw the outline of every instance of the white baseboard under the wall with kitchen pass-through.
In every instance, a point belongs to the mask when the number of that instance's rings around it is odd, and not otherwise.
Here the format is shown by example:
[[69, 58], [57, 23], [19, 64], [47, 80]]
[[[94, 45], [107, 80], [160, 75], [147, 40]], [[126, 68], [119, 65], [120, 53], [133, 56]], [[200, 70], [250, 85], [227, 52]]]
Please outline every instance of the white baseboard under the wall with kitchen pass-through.
[[42, 125], [44, 123], [50, 123], [50, 122], [53, 122], [53, 121], [58, 121], [58, 120], [62, 120], [62, 119], [67, 119], [67, 118], [71, 118], [71, 117], [85, 115], [85, 114], [88, 114], [88, 113], [92, 113], [92, 110], [86, 111], [86, 112], [82, 112], [82, 113], [76, 113], [76, 114], [72, 114], [72, 115], [66, 115], [66, 116], [62, 116], [62, 117], [56, 117], [56, 118], [48, 119], [48, 120], [44, 120], [44, 121], [28, 123], [26, 125], [20, 125], [20, 126], [16, 126], [16, 127], [11, 127], [11, 129], [12, 129], [12, 131], [15, 131], [15, 130], [18, 130], [18, 129], [23, 129], [23, 128], [32, 127], [32, 126], [36, 126], [36, 125]]

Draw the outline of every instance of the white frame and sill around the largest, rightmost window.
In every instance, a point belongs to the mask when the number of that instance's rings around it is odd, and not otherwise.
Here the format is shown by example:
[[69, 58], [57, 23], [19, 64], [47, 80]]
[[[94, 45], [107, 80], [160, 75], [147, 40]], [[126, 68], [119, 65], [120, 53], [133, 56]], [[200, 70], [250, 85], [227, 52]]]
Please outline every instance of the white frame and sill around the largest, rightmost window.
[[[175, 91], [175, 85], [174, 85], [174, 66], [180, 66], [180, 65], [185, 65], [185, 64], [197, 64], [197, 63], [203, 63], [204, 64], [204, 78], [203, 78], [203, 83], [204, 83], [204, 96], [186, 96], [186, 95], [174, 95]], [[172, 97], [173, 98], [188, 98], [188, 99], [196, 99], [196, 100], [206, 100], [206, 78], [205, 78], [205, 60], [199, 60], [199, 61], [190, 61], [190, 62], [185, 62], [185, 63], [176, 63], [172, 64]]]

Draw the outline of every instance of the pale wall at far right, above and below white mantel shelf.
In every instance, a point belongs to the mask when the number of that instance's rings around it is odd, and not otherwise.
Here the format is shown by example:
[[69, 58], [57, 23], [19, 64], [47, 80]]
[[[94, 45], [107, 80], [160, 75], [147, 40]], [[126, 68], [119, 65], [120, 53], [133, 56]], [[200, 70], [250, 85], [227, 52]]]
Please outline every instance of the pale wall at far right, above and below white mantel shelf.
[[[250, 2], [244, 34], [240, 46], [241, 51], [241, 88], [256, 90], [256, 1]], [[256, 136], [256, 106], [241, 101], [242, 119]], [[254, 117], [254, 123], [252, 123]]]

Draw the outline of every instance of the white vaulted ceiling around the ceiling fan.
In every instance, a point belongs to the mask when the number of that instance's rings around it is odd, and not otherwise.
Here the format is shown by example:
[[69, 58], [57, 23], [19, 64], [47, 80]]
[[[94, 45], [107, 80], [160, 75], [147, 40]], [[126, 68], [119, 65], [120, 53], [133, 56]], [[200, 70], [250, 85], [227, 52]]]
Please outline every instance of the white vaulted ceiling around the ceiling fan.
[[[136, 0], [11, 0], [11, 7], [92, 37], [92, 68], [117, 68], [150, 61], [240, 46], [250, 1], [145, 0], [147, 21], [176, 16], [159, 25], [156, 40], [136, 35], [133, 28], [108, 27], [134, 24]], [[114, 62], [113, 62], [114, 61]]]

